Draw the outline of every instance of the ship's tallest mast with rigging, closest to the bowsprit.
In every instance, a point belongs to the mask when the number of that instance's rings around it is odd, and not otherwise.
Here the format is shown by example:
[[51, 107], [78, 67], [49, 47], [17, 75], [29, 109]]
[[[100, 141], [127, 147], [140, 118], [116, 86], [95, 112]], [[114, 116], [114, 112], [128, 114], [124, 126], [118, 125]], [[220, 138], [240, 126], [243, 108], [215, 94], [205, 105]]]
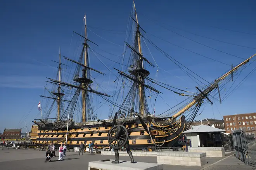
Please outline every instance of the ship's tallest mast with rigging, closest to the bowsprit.
[[[133, 41], [133, 45], [126, 43], [126, 46], [128, 46], [131, 49], [131, 56], [129, 59], [129, 67], [128, 72], [130, 75], [126, 74], [123, 71], [118, 71], [118, 73], [125, 78], [128, 78], [133, 81], [132, 86], [125, 98], [125, 100], [122, 103], [122, 108], [130, 108], [130, 113], [137, 112], [140, 115], [149, 114], [149, 107], [147, 104], [147, 99], [145, 95], [145, 87], [149, 90], [152, 90], [156, 93], [161, 93], [158, 90], [154, 89], [153, 87], [150, 87], [149, 85], [145, 84], [145, 78], [149, 76], [149, 71], [144, 68], [144, 61], [147, 62], [149, 65], [153, 66], [152, 63], [150, 63], [142, 54], [142, 46], [141, 46], [141, 32], [140, 25], [138, 24], [138, 16], [135, 8], [135, 2], [133, 1], [133, 7], [134, 7], [134, 17], [132, 16], [131, 19], [133, 22], [135, 22], [135, 39]], [[142, 31], [144, 31], [142, 29]], [[121, 111], [120, 116], [125, 116], [127, 112], [124, 110]]]

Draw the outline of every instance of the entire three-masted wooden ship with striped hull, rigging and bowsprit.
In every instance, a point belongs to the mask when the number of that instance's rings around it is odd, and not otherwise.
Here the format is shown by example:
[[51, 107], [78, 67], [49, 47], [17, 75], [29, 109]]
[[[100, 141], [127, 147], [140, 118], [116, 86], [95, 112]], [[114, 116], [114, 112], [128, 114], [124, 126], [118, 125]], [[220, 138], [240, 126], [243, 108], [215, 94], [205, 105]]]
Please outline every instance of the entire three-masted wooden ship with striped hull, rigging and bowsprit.
[[[233, 80], [256, 54], [244, 60], [237, 66], [232, 66], [229, 71], [222, 76], [209, 82], [203, 87], [196, 87], [197, 92], [189, 95], [187, 90], [175, 88], [166, 83], [159, 82], [150, 78], [150, 72], [146, 66], [154, 67], [154, 65], [142, 53], [142, 39], [148, 41], [152, 46], [158, 49], [164, 56], [170, 59], [175, 65], [179, 66], [182, 71], [193, 77], [193, 71], [186, 68], [176, 59], [169, 56], [167, 53], [158, 48], [152, 41], [144, 37], [145, 31], [138, 24], [138, 16], [133, 2], [133, 16], [130, 16], [133, 26], [133, 39], [126, 42], [126, 47], [130, 50], [128, 57], [128, 66], [122, 65], [119, 69], [114, 68], [119, 75], [115, 82], [121, 82], [121, 88], [125, 94], [123, 98], [113, 97], [106, 93], [98, 92], [92, 88], [93, 77], [91, 71], [104, 75], [101, 71], [90, 67], [88, 62], [89, 44], [95, 44], [87, 38], [86, 16], [84, 36], [78, 34], [84, 39], [83, 48], [78, 60], [64, 57], [64, 59], [76, 65], [73, 74], [73, 80], [70, 83], [62, 81], [61, 78], [61, 53], [59, 54], [59, 70], [57, 78], [48, 78], [47, 82], [53, 84], [53, 90], [50, 96], [42, 96], [49, 100], [53, 100], [49, 108], [57, 105], [57, 114], [55, 118], [49, 119], [52, 109], [43, 111], [41, 119], [36, 119], [32, 126], [31, 138], [35, 145], [48, 145], [54, 142], [57, 145], [66, 143], [67, 146], [79, 146], [80, 142], [88, 145], [90, 142], [97, 143], [99, 146], [109, 146], [107, 135], [111, 129], [111, 122], [116, 121], [125, 122], [124, 126], [129, 130], [129, 143], [131, 148], [146, 148], [148, 146], [162, 146], [171, 147], [176, 141], [182, 137], [183, 131], [189, 128], [191, 122], [197, 116], [200, 108], [204, 104], [213, 104], [216, 96], [221, 102], [221, 91], [224, 90], [225, 85]], [[142, 32], [141, 32], [142, 31]], [[244, 68], [244, 67], [243, 67]], [[171, 107], [162, 114], [150, 114], [146, 93], [151, 95], [159, 95], [161, 92], [153, 86], [159, 86], [170, 90], [170, 93], [183, 97], [184, 100], [178, 105]], [[74, 93], [70, 95], [70, 99], [64, 98], [64, 90], [74, 89]], [[121, 89], [120, 88], [120, 89]], [[122, 93], [120, 90], [117, 93]], [[109, 119], [97, 119], [93, 112], [91, 95], [95, 94], [113, 105]], [[81, 111], [78, 109], [78, 101], [81, 100]], [[66, 107], [63, 105], [65, 102]], [[115, 110], [115, 111], [114, 111]], [[81, 122], [73, 120], [74, 112], [81, 114]], [[115, 116], [114, 116], [115, 115]], [[141, 123], [143, 121], [144, 123]], [[148, 129], [150, 133], [146, 133]]]

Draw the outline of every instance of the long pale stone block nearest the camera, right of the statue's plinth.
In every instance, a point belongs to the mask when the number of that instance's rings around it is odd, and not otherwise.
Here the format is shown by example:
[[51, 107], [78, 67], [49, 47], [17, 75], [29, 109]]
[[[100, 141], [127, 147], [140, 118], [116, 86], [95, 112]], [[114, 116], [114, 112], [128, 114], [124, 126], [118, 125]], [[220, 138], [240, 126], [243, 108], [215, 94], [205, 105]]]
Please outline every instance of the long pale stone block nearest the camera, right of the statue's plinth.
[[201, 167], [206, 164], [206, 153], [170, 151], [157, 152], [157, 163]]

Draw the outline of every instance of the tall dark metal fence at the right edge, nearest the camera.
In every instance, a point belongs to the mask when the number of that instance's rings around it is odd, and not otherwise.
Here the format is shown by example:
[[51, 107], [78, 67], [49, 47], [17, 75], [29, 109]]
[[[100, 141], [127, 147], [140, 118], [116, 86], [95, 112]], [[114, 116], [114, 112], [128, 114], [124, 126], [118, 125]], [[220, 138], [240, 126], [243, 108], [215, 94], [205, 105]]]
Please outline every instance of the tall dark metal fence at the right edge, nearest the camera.
[[246, 165], [256, 167], [256, 131], [233, 131], [235, 156]]

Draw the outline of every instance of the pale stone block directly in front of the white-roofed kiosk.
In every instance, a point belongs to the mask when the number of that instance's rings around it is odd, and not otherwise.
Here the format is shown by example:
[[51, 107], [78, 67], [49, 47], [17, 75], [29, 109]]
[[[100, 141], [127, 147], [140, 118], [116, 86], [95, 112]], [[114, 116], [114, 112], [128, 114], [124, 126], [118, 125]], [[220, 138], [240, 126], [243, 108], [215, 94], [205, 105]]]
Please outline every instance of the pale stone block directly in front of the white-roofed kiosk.
[[192, 147], [188, 148], [189, 152], [205, 152], [207, 157], [224, 157], [224, 148], [219, 147]]

